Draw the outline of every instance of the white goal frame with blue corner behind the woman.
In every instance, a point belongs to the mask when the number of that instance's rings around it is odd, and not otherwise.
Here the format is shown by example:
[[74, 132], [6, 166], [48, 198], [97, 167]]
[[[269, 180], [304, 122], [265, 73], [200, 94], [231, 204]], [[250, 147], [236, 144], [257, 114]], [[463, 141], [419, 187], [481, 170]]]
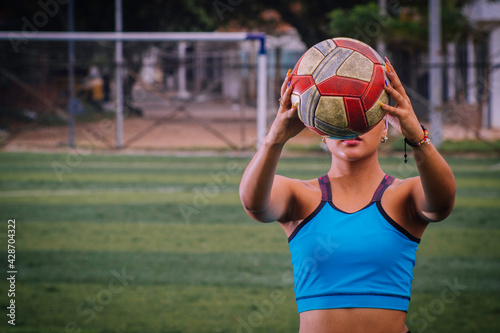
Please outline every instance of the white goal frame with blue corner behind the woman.
[[[257, 56], [257, 147], [262, 144], [267, 129], [267, 59], [265, 33], [246, 32], [25, 32], [25, 31], [0, 31], [0, 40], [8, 40], [14, 48], [30, 40], [38, 41], [213, 41], [234, 42], [245, 40], [258, 40], [260, 42]], [[117, 48], [115, 61], [121, 63], [122, 50]], [[123, 93], [116, 94], [116, 105], [123, 105]], [[117, 137], [116, 148], [123, 147], [123, 114], [117, 110]]]

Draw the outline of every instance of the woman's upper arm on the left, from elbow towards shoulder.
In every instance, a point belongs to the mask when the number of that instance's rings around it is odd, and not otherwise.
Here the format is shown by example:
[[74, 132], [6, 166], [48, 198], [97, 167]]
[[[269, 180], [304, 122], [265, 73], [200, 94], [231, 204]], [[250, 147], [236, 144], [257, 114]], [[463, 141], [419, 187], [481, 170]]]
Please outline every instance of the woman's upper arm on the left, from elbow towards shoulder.
[[292, 179], [276, 175], [274, 176], [266, 206], [259, 211], [244, 207], [245, 211], [259, 222], [273, 222], [286, 219], [293, 207], [293, 189], [294, 181]]

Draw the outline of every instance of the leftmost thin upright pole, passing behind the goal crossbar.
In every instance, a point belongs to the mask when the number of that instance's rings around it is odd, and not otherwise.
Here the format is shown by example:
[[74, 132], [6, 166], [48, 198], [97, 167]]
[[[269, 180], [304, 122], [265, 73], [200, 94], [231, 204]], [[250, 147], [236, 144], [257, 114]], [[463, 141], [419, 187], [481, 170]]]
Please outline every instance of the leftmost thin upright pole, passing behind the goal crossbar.
[[[74, 0], [69, 1], [68, 6], [68, 32], [75, 31], [75, 6]], [[68, 127], [69, 146], [75, 148], [75, 41], [68, 41]]]

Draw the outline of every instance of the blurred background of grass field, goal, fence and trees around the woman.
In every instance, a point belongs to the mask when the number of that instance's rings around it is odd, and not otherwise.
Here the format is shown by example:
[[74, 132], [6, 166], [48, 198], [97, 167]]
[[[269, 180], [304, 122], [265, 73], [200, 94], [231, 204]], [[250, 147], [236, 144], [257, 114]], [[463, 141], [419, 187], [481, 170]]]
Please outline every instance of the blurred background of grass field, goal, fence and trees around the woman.
[[[37, 38], [114, 31], [217, 38]], [[7, 0], [0, 36], [0, 215], [16, 219], [18, 270], [1, 332], [298, 331], [286, 237], [237, 191], [286, 72], [332, 37], [391, 60], [457, 178], [454, 213], [420, 244], [409, 328], [500, 331], [499, 1]], [[292, 139], [279, 173], [324, 174], [320, 141]], [[384, 170], [416, 175], [402, 149], [392, 132]]]

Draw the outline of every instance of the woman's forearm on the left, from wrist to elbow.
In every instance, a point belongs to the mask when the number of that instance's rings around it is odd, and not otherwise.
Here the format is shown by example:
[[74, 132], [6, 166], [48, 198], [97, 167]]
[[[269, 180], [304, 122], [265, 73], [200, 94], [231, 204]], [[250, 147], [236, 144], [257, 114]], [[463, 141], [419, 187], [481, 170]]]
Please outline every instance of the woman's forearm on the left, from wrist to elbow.
[[240, 183], [240, 199], [247, 211], [261, 212], [267, 208], [282, 149], [283, 144], [266, 137], [248, 164]]

